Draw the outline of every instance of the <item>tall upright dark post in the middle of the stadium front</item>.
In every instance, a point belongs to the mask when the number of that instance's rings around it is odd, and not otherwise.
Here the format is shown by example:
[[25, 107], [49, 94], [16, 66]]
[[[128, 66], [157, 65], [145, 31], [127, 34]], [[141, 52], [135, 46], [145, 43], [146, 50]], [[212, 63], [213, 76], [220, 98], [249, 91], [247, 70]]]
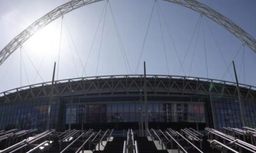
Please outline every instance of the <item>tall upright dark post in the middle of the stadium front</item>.
[[144, 99], [145, 99], [145, 135], [148, 129], [148, 101], [147, 101], [147, 80], [146, 80], [146, 62], [144, 61]]

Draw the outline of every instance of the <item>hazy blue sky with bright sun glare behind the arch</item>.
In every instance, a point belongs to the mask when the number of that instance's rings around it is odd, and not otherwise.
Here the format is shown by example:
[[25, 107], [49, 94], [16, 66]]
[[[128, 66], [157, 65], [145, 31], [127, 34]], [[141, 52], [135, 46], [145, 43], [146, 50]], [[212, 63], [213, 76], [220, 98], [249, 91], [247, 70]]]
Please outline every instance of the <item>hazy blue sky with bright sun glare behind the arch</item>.
[[[0, 0], [0, 48], [66, 2]], [[256, 1], [200, 3], [256, 38]], [[0, 66], [0, 92], [51, 81], [54, 61], [56, 80], [143, 74], [146, 61], [150, 75], [234, 82], [234, 60], [239, 82], [256, 86], [255, 59], [255, 52], [236, 36], [184, 6], [161, 0], [101, 1], [54, 20], [10, 55]]]

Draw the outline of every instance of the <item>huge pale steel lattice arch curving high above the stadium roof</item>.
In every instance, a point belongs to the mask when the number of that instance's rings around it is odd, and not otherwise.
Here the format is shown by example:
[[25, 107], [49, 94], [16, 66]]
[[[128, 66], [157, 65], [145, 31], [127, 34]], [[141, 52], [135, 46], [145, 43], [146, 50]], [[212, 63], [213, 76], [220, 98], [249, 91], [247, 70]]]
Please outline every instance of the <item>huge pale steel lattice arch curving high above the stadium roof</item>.
[[[50, 24], [56, 18], [62, 17], [66, 13], [76, 10], [82, 6], [92, 4], [98, 1], [103, 0], [72, 0], [68, 3], [65, 3], [61, 6], [58, 6], [54, 10], [50, 11], [44, 17], [39, 18], [33, 24], [29, 25], [27, 29], [22, 31], [18, 36], [13, 38], [3, 50], [0, 51], [0, 65], [17, 49], [19, 48], [26, 40], [28, 40], [33, 34], [45, 27], [45, 25]], [[204, 15], [205, 17], [211, 18], [216, 23], [225, 27], [230, 33], [234, 34], [239, 40], [243, 41], [244, 45], [250, 47], [254, 52], [256, 52], [256, 40], [241, 29], [238, 25], [234, 24], [227, 17], [224, 17], [217, 11], [212, 10], [208, 6], [205, 6], [202, 3], [198, 3], [195, 0], [163, 0], [175, 4], [180, 4], [192, 10], [197, 11], [198, 13]]]

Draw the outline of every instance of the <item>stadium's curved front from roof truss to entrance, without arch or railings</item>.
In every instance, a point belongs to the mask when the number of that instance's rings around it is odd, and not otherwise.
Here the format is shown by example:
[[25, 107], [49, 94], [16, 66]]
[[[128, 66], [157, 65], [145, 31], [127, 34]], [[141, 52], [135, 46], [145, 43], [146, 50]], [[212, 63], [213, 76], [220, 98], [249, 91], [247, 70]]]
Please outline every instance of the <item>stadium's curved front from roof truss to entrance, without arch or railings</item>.
[[[147, 75], [149, 128], [241, 128], [237, 86], [207, 78]], [[239, 84], [245, 126], [256, 124], [255, 87]], [[52, 91], [52, 92], [51, 92]], [[145, 118], [143, 75], [60, 80], [2, 92], [1, 129], [140, 129]]]

